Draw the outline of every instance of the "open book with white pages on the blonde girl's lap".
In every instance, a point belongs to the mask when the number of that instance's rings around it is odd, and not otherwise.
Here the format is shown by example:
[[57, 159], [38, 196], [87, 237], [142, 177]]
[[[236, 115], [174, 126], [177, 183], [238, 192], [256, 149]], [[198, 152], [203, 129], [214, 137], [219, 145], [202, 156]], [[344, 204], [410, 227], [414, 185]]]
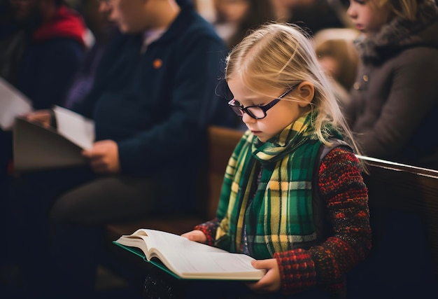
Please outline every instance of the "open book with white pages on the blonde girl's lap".
[[250, 256], [229, 253], [160, 230], [139, 229], [113, 243], [178, 279], [257, 281], [264, 275], [264, 270], [251, 265]]

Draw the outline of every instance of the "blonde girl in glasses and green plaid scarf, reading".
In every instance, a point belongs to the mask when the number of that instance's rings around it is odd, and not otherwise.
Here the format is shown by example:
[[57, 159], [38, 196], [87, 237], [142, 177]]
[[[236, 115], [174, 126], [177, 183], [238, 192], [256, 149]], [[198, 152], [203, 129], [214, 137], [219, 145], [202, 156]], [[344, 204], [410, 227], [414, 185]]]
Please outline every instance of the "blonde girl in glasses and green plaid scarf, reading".
[[346, 272], [371, 247], [367, 188], [353, 150], [337, 141], [351, 134], [309, 36], [264, 25], [229, 53], [225, 78], [248, 130], [217, 218], [183, 236], [253, 256], [267, 270], [248, 284], [254, 294], [320, 288], [344, 298]]

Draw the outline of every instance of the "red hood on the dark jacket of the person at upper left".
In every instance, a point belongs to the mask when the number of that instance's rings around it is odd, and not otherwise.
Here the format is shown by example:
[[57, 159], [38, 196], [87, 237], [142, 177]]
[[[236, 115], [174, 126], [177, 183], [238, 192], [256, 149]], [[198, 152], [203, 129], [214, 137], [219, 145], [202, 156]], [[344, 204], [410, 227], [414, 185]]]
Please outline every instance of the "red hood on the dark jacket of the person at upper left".
[[66, 37], [85, 46], [86, 27], [83, 18], [66, 6], [60, 6], [56, 15], [34, 32], [34, 41], [47, 41], [57, 37]]

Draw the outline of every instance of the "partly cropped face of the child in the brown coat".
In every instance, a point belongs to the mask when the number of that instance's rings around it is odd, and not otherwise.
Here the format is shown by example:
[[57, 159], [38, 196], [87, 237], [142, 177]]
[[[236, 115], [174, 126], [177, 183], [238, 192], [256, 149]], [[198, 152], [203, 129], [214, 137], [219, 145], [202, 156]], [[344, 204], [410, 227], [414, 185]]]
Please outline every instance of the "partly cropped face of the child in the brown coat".
[[388, 6], [379, 6], [377, 0], [350, 0], [347, 14], [355, 27], [367, 36], [379, 32], [390, 20]]

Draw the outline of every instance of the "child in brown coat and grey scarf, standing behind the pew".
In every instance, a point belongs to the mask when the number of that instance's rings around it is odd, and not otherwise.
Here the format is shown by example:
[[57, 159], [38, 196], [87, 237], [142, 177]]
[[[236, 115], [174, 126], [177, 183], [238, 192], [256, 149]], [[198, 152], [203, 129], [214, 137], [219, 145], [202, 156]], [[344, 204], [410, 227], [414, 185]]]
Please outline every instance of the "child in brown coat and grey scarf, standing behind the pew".
[[435, 0], [351, 0], [362, 65], [346, 118], [366, 155], [438, 169]]

